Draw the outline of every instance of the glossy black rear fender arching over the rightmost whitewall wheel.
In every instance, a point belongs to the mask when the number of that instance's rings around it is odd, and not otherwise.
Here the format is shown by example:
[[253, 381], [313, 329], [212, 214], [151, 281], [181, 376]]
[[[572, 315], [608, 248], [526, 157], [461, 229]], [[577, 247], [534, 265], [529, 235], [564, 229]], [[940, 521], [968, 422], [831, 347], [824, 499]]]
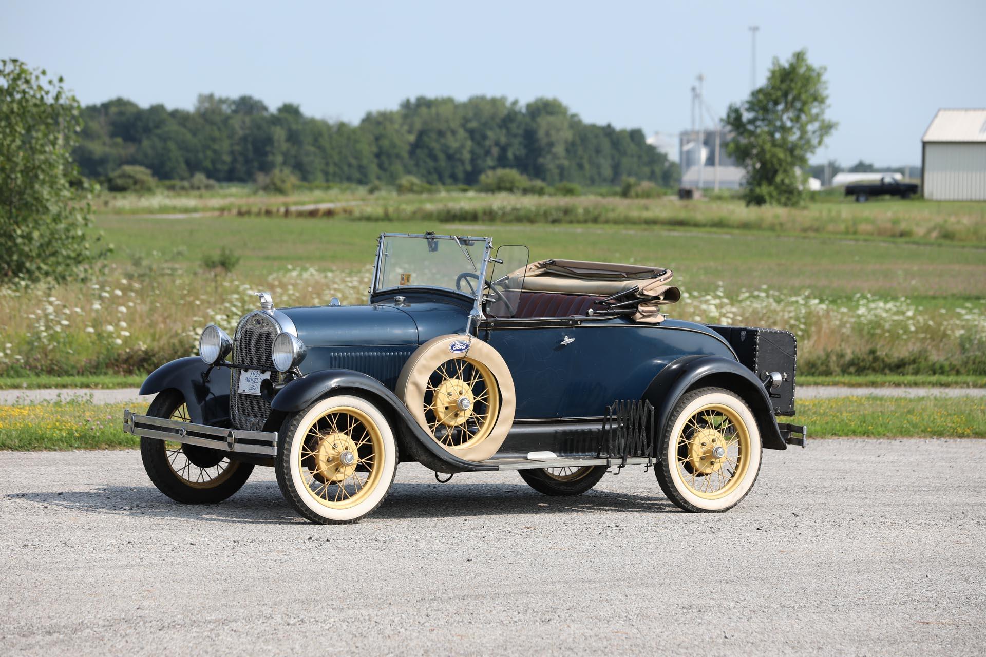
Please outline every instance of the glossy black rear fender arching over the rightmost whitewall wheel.
[[[657, 416], [655, 429], [659, 440], [664, 436], [671, 411], [681, 396], [689, 390], [706, 386], [726, 388], [740, 395], [753, 412], [764, 447], [788, 448], [777, 427], [774, 407], [763, 383], [739, 361], [721, 356], [685, 356], [670, 362], [654, 377], [644, 392], [644, 399], [654, 405]], [[664, 445], [659, 444], [659, 447], [663, 450]]]

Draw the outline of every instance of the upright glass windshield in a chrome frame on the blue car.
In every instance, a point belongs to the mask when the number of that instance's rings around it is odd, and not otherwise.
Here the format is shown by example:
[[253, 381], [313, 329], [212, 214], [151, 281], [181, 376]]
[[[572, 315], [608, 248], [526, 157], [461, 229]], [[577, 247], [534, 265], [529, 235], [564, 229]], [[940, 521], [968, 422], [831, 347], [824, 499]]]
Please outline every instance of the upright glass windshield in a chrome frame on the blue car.
[[486, 255], [484, 238], [385, 233], [374, 290], [441, 288], [475, 297]]

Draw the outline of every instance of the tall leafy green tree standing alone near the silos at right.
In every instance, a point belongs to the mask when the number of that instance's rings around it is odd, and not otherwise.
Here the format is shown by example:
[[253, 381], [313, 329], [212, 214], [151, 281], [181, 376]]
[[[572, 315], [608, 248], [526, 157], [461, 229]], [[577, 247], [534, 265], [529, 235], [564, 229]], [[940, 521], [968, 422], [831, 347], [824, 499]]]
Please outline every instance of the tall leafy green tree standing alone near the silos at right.
[[804, 203], [809, 156], [836, 126], [825, 118], [824, 73], [807, 50], [785, 64], [775, 57], [763, 87], [730, 105], [726, 124], [735, 137], [726, 148], [746, 169], [747, 205]]

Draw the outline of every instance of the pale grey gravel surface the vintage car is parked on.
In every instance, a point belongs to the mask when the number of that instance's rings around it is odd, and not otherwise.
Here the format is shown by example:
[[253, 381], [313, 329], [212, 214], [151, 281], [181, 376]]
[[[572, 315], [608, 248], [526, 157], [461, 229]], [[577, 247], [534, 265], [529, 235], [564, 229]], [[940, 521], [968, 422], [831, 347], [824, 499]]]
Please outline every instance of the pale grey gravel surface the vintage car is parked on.
[[216, 506], [136, 451], [0, 452], [0, 654], [982, 655], [986, 440], [766, 451], [725, 514], [627, 469], [581, 497], [400, 466], [358, 525], [272, 471]]

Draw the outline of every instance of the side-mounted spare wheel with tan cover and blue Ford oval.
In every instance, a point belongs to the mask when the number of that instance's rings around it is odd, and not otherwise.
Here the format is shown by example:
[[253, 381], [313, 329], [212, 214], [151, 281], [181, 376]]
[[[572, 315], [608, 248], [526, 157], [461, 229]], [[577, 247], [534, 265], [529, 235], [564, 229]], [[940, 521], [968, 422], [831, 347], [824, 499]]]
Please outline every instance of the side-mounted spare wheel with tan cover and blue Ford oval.
[[438, 444], [465, 461], [493, 456], [514, 424], [514, 378], [500, 354], [468, 335], [421, 345], [400, 370], [395, 392]]

